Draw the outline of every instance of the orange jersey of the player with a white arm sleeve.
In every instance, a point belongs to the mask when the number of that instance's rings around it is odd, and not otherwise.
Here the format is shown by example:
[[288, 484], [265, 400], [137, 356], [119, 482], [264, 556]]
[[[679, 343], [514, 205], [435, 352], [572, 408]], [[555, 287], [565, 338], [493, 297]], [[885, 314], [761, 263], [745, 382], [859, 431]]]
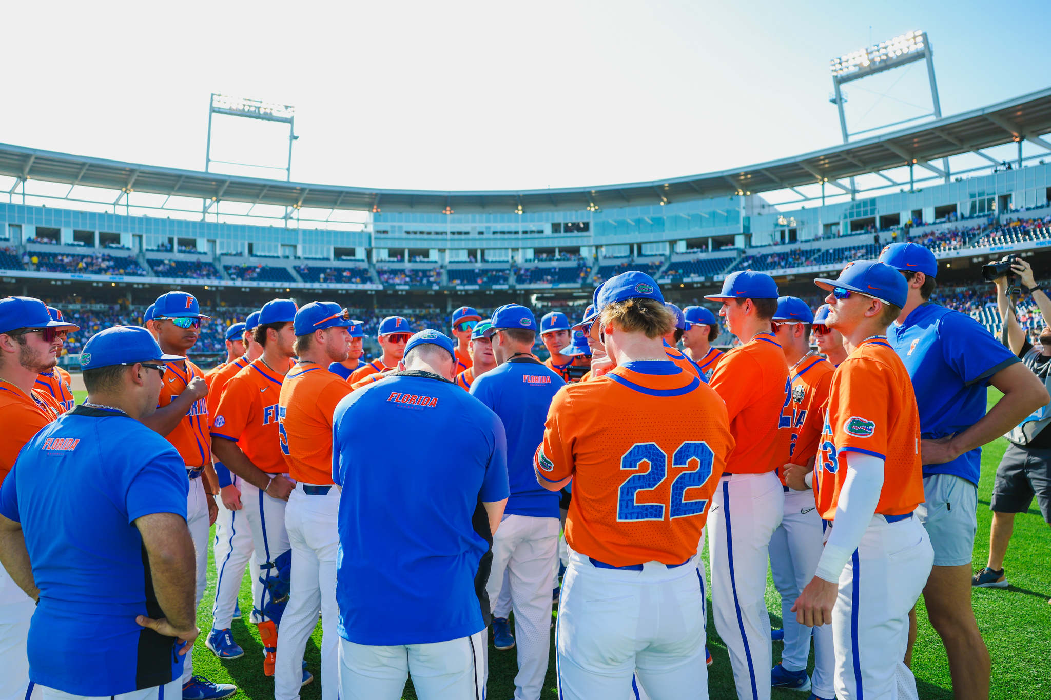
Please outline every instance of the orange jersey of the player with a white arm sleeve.
[[836, 518], [847, 478], [846, 464], [840, 459], [843, 452], [884, 460], [877, 513], [905, 515], [923, 503], [920, 410], [905, 364], [882, 338], [859, 345], [836, 368], [828, 389], [813, 465], [813, 495], [826, 521]]

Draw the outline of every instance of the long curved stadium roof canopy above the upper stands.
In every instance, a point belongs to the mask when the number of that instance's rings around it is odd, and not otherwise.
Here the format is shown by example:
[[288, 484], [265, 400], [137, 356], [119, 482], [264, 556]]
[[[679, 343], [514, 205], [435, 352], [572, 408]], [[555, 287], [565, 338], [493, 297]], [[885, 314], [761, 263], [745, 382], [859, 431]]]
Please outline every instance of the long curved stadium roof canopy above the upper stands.
[[1040, 139], [1048, 132], [1051, 88], [864, 141], [746, 168], [586, 188], [441, 192], [339, 187], [177, 170], [5, 144], [0, 144], [0, 174], [280, 207], [417, 212], [442, 212], [448, 208], [458, 214], [514, 212], [519, 207], [528, 211], [583, 210], [783, 190], [812, 185], [821, 178], [849, 192], [849, 185], [841, 181], [900, 168], [912, 160], [919, 167], [948, 176], [932, 162], [974, 152], [998, 165], [981, 149], [1025, 139], [1051, 151], [1051, 142]]

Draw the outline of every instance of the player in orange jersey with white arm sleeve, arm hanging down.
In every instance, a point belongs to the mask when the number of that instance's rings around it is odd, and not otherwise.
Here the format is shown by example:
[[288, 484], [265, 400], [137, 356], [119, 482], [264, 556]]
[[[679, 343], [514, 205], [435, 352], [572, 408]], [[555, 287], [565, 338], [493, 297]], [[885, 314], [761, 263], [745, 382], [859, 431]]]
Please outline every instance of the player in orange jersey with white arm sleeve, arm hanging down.
[[807, 627], [831, 623], [836, 697], [916, 697], [902, 659], [908, 615], [927, 582], [934, 552], [913, 517], [923, 502], [920, 413], [908, 373], [887, 343], [908, 285], [893, 268], [849, 262], [831, 292], [827, 323], [846, 339], [836, 369], [811, 485], [831, 521], [817, 574], [796, 600]]

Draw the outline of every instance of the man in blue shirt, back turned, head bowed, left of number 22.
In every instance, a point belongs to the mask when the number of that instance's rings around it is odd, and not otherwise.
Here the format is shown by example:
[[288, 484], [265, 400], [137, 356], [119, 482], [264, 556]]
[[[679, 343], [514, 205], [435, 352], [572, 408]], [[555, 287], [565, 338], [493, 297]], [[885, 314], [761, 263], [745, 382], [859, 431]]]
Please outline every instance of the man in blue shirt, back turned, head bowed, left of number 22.
[[[453, 383], [452, 340], [405, 346], [404, 370], [345, 397], [332, 433], [339, 499], [336, 569], [344, 700], [485, 697], [486, 624], [475, 594], [508, 497], [496, 415]], [[440, 694], [440, 695], [439, 695]]]

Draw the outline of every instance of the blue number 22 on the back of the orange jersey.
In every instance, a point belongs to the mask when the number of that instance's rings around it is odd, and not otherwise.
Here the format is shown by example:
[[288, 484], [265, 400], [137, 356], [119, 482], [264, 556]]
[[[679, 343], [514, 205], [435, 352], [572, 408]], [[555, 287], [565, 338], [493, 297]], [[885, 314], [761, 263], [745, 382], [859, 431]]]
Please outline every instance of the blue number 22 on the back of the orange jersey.
[[[672, 455], [673, 468], [684, 468], [672, 482], [668, 495], [668, 516], [688, 517], [699, 515], [707, 508], [706, 499], [688, 500], [686, 491], [691, 488], [704, 486], [713, 478], [712, 464], [715, 455], [712, 448], [704, 442], [684, 442]], [[642, 471], [643, 463], [648, 463], [650, 469]], [[665, 504], [638, 503], [639, 491], [653, 491], [667, 476], [667, 454], [656, 443], [636, 443], [620, 458], [620, 468], [635, 470], [620, 485], [617, 499], [617, 519], [628, 521], [663, 521]], [[715, 474], [718, 479], [721, 474]]]

